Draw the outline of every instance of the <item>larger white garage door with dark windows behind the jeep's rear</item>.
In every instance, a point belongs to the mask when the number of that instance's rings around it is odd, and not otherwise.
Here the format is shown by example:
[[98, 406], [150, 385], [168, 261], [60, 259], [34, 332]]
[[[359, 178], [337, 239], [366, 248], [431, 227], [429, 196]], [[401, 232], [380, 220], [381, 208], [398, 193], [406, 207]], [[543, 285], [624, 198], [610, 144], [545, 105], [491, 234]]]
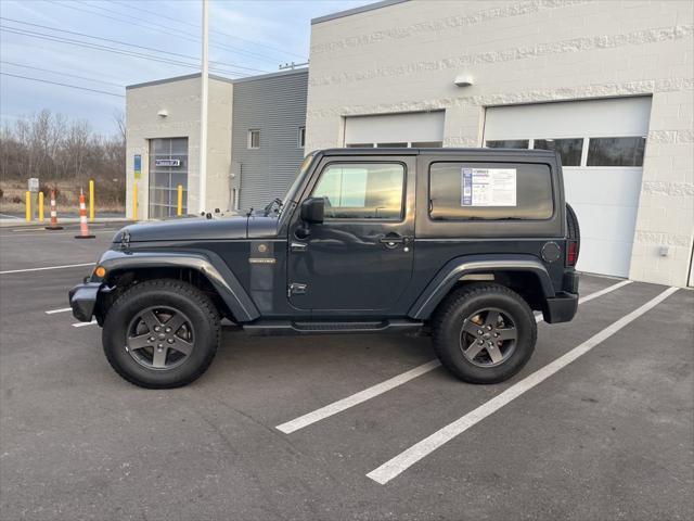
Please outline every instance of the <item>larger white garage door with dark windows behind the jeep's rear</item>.
[[582, 271], [629, 275], [650, 114], [650, 97], [487, 109], [487, 147], [560, 151]]

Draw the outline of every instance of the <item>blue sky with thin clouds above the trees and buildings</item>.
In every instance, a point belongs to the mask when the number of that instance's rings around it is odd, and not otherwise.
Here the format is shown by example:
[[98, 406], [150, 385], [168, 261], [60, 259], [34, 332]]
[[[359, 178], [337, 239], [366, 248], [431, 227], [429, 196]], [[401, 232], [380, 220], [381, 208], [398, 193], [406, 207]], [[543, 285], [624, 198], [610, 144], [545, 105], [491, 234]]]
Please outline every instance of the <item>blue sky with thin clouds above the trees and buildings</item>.
[[[305, 62], [312, 17], [371, 1], [210, 0], [210, 73], [234, 78]], [[200, 71], [201, 5], [0, 0], [2, 122], [50, 109], [115, 132], [113, 114], [125, 107], [126, 85]]]

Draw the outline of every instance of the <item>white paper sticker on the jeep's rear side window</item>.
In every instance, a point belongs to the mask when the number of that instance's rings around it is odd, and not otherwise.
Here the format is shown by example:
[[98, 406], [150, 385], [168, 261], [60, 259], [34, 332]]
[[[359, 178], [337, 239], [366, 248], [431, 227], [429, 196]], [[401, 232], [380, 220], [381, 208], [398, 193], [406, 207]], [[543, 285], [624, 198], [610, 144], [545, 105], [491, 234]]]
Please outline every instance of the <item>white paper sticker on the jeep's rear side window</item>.
[[516, 206], [515, 168], [462, 168], [461, 206]]

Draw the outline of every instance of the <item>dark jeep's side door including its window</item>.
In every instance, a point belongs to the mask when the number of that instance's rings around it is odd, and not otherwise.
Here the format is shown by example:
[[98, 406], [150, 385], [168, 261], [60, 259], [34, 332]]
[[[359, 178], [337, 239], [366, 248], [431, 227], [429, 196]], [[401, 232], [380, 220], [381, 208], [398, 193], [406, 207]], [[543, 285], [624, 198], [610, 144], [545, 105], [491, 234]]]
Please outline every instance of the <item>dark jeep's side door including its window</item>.
[[412, 276], [414, 164], [412, 156], [323, 161], [307, 192], [325, 199], [324, 223], [300, 239], [300, 219], [290, 229], [294, 307], [317, 315], [394, 309]]

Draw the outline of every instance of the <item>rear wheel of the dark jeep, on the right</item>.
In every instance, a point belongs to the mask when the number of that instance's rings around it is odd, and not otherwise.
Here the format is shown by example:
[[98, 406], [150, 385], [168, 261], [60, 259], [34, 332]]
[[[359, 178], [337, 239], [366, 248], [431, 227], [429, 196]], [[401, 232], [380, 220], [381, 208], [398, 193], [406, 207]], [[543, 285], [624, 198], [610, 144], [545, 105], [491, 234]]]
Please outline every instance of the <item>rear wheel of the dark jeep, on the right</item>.
[[[492, 320], [494, 313], [498, 317], [488, 330], [485, 318]], [[532, 310], [520, 295], [499, 284], [471, 284], [454, 291], [433, 319], [436, 355], [446, 369], [464, 382], [507, 380], [530, 359], [536, 340]], [[480, 351], [473, 355], [475, 350]]]

